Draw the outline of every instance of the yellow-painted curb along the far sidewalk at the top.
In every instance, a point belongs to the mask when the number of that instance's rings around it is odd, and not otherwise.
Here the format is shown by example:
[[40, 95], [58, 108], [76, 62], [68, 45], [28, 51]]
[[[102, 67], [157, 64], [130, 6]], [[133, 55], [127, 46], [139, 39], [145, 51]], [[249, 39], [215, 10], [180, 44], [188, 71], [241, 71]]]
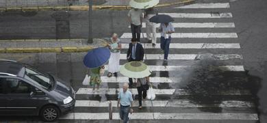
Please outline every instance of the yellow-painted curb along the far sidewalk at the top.
[[[162, 3], [155, 5], [155, 8], [161, 8], [171, 5], [187, 5], [194, 3], [195, 0], [183, 0], [173, 3]], [[32, 12], [32, 11], [88, 11], [88, 5], [68, 5], [68, 6], [44, 6], [27, 8], [0, 8], [0, 12]], [[92, 10], [130, 10], [129, 5], [92, 5]]]

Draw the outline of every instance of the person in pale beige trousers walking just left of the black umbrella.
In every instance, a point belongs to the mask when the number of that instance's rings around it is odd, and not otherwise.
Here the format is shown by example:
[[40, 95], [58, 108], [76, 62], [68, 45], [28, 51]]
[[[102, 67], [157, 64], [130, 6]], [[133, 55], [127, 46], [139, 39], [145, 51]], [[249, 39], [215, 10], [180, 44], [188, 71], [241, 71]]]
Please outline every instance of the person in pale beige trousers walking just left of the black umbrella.
[[151, 23], [149, 19], [155, 15], [157, 15], [157, 11], [154, 8], [148, 8], [147, 10], [144, 11], [144, 18], [146, 21], [146, 29], [147, 29], [147, 40], [149, 40], [149, 43], [152, 43], [152, 46], [155, 46], [157, 42], [157, 32], [156, 32], [157, 24]]

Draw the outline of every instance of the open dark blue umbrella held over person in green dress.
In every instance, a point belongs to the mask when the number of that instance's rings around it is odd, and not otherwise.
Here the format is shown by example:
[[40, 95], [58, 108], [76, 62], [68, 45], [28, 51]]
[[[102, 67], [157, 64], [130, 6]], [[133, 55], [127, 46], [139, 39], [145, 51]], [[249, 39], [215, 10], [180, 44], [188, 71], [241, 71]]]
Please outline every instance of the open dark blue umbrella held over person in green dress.
[[110, 59], [110, 50], [104, 47], [89, 51], [84, 57], [84, 65], [88, 68], [103, 66]]

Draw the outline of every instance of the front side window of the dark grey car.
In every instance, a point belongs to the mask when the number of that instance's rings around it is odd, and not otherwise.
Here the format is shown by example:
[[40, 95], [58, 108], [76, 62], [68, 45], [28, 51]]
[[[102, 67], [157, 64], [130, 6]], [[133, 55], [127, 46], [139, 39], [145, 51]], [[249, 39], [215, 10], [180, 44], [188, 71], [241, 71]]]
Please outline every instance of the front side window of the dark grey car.
[[5, 79], [8, 87], [8, 93], [11, 94], [29, 94], [31, 92], [31, 85], [19, 79], [7, 78]]

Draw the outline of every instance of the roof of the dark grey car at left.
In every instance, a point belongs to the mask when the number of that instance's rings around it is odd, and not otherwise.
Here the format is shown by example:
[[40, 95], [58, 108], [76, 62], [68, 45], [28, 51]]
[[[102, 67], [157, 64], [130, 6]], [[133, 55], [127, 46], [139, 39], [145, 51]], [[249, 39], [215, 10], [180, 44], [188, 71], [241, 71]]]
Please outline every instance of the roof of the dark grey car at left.
[[20, 76], [24, 65], [11, 60], [0, 59], [0, 73], [5, 75]]

